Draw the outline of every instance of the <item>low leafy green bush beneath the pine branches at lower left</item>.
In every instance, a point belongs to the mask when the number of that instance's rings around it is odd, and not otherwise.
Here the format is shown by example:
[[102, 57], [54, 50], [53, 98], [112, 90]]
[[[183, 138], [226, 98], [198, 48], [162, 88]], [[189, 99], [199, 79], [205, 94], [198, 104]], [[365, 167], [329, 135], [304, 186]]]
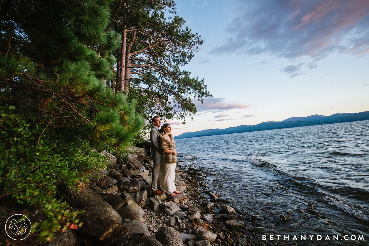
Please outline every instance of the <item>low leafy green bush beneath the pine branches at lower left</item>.
[[30, 117], [17, 115], [14, 106], [0, 106], [0, 114], [0, 213], [14, 206], [44, 207], [46, 219], [32, 231], [49, 240], [52, 233], [77, 223], [76, 212], [55, 200], [57, 186], [87, 184], [92, 172], [106, 168], [107, 157], [92, 152], [85, 140], [71, 142], [61, 133], [45, 131]]

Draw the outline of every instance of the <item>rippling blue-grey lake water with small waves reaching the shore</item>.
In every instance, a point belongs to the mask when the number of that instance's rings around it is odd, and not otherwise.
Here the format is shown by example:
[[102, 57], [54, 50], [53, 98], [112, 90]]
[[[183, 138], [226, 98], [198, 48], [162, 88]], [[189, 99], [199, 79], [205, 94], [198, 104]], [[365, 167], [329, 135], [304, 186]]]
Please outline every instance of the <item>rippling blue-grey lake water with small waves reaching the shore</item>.
[[369, 121], [176, 143], [181, 166], [204, 170], [211, 192], [259, 217], [267, 245], [369, 245]]

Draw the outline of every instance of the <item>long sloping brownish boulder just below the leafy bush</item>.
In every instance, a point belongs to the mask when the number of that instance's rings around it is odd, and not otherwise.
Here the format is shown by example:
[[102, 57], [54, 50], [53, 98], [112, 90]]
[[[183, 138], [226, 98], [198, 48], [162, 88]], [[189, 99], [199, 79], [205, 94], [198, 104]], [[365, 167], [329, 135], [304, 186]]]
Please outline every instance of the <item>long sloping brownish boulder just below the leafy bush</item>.
[[64, 197], [68, 204], [73, 208], [84, 209], [86, 211], [100, 215], [102, 218], [113, 219], [118, 223], [122, 222], [120, 215], [111, 205], [104, 201], [99, 194], [90, 188], [82, 188], [76, 191], [66, 189]]

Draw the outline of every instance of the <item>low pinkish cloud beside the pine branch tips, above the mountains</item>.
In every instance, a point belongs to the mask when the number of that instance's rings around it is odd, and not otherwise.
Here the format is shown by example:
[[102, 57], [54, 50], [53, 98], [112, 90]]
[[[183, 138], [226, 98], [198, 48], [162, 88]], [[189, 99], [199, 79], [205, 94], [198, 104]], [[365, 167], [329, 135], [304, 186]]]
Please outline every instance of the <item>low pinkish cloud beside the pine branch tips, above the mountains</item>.
[[245, 109], [251, 107], [251, 105], [233, 102], [227, 103], [225, 98], [221, 97], [212, 97], [212, 98], [205, 98], [204, 103], [200, 101], [193, 100], [193, 103], [196, 105], [197, 111], [223, 111], [223, 110], [230, 110], [230, 109]]

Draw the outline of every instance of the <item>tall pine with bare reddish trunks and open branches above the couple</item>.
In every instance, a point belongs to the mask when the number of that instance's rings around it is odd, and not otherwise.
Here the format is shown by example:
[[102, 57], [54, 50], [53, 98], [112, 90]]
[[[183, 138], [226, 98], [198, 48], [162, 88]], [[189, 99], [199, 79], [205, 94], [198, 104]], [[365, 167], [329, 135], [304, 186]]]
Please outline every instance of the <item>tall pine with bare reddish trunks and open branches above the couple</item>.
[[200, 36], [183, 27], [173, 0], [114, 1], [112, 6], [111, 28], [123, 36], [116, 54], [115, 91], [147, 98], [147, 119], [158, 114], [184, 122], [197, 111], [192, 98], [203, 102], [211, 97], [203, 79], [181, 69], [202, 44]]

